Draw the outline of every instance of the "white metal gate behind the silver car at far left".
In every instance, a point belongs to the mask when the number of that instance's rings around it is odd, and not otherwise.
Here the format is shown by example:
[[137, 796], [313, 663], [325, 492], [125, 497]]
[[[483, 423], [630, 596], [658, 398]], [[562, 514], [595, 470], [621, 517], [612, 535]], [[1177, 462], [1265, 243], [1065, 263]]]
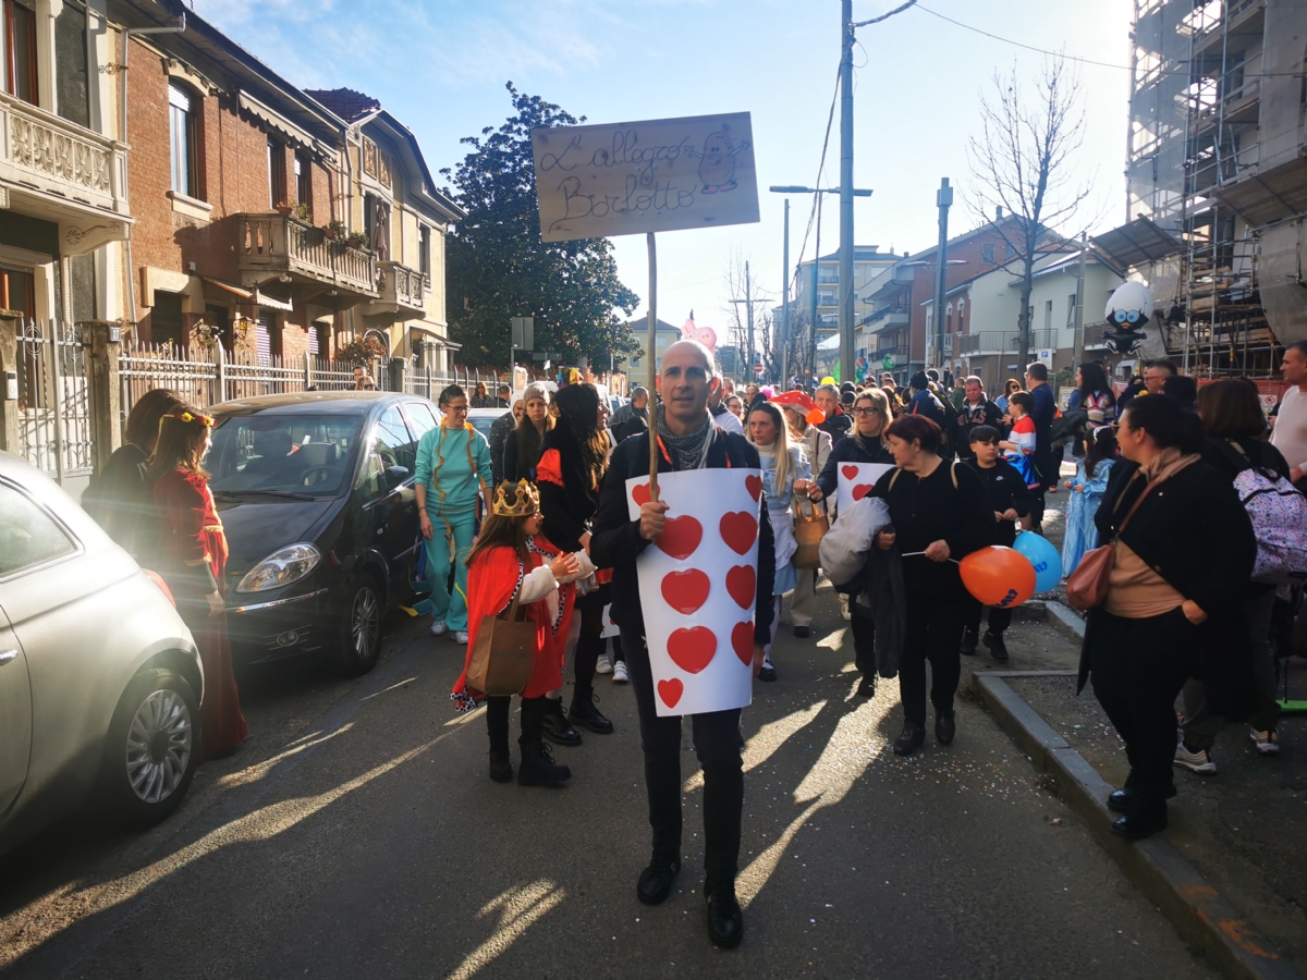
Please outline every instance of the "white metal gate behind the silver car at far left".
[[86, 362], [78, 325], [18, 328], [18, 455], [60, 483], [93, 468]]

